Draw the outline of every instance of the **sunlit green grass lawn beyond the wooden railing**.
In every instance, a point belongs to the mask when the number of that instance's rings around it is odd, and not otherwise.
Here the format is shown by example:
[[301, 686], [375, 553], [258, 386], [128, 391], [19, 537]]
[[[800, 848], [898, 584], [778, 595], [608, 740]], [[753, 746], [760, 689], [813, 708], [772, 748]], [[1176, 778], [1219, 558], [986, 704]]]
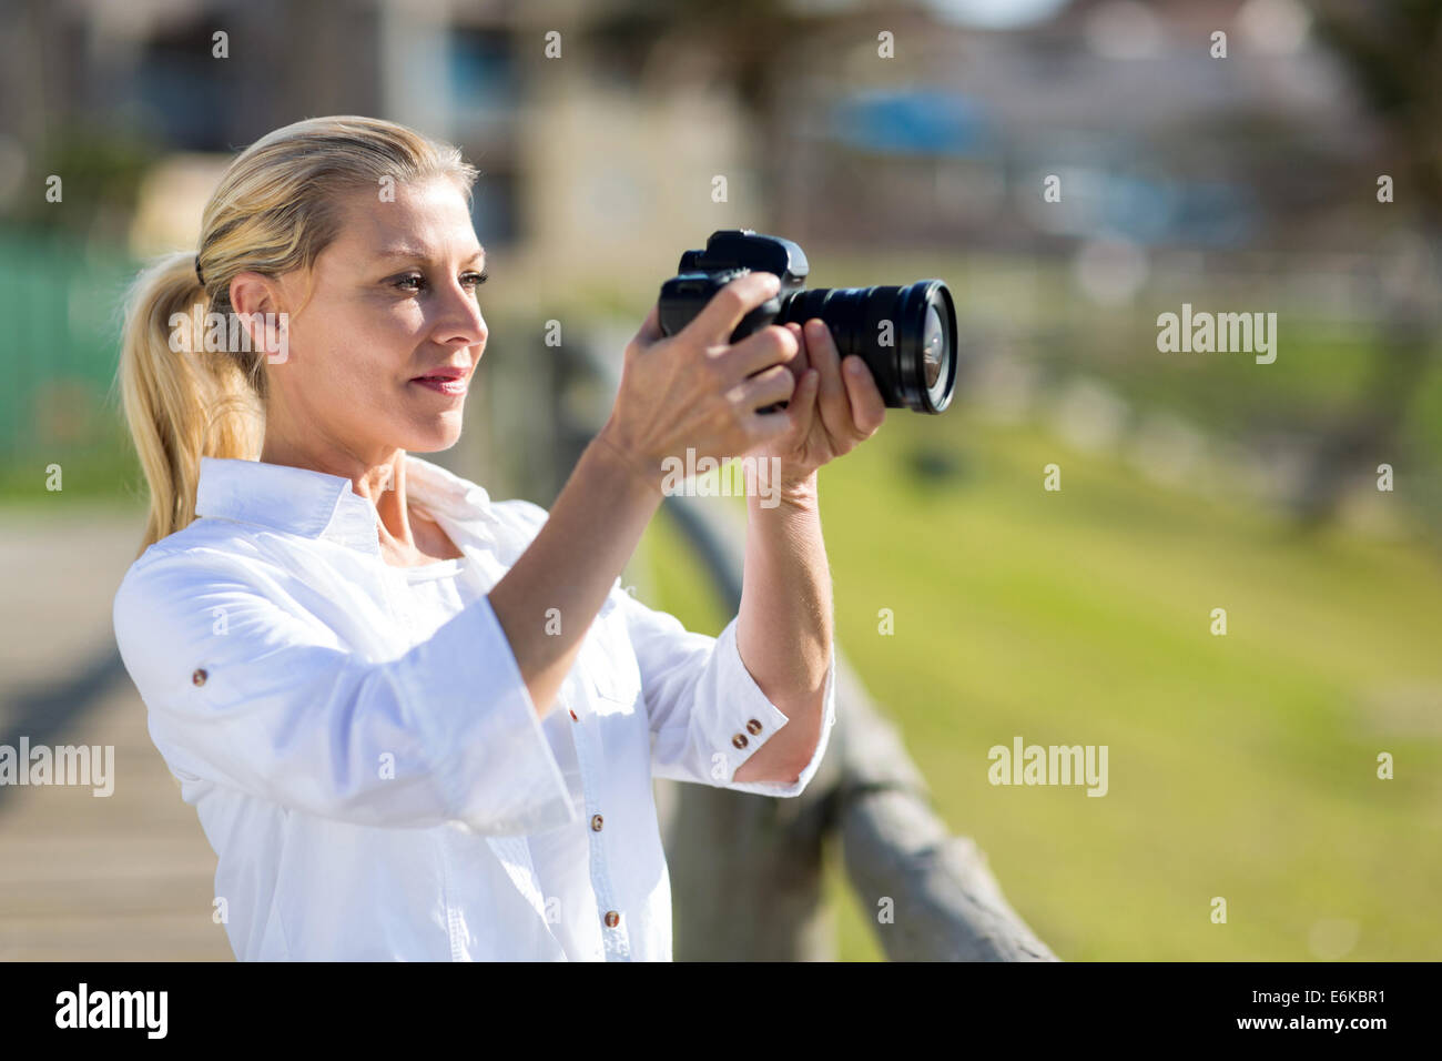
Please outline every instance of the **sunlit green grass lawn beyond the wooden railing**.
[[[923, 447], [960, 475], [910, 472]], [[1050, 462], [1061, 492], [1041, 489]], [[1347, 959], [1442, 957], [1442, 572], [1425, 549], [1296, 536], [965, 414], [893, 411], [823, 471], [822, 498], [841, 647], [1058, 956], [1311, 960], [1312, 925], [1341, 918], [1360, 930]], [[717, 629], [673, 531], [646, 547], [655, 603]], [[991, 785], [988, 748], [1015, 735], [1107, 745], [1110, 791]], [[842, 957], [878, 957], [835, 857], [828, 888]]]

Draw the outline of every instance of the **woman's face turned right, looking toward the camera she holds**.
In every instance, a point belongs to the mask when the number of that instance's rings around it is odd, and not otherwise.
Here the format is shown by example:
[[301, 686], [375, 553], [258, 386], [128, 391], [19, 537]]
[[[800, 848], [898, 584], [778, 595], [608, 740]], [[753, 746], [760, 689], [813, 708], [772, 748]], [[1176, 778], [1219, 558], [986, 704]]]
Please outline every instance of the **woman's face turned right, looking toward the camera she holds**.
[[[286, 361], [267, 364], [273, 432], [301, 449], [384, 460], [399, 447], [456, 443], [466, 390], [486, 346], [476, 302], [485, 248], [447, 179], [342, 199], [340, 235], [311, 274], [284, 277]], [[435, 378], [433, 374], [440, 374]], [[423, 377], [433, 377], [425, 380]]]

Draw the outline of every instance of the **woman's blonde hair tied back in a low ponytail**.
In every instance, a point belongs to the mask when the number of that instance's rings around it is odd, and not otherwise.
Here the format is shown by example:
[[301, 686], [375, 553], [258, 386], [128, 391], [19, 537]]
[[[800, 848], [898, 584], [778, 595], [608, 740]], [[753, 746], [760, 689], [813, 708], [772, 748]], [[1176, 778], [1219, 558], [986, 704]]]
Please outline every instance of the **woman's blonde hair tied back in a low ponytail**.
[[189, 328], [186, 352], [173, 352], [173, 316], [232, 313], [239, 273], [309, 270], [339, 234], [340, 192], [379, 188], [384, 178], [450, 178], [469, 204], [476, 176], [450, 144], [353, 115], [277, 128], [231, 162], [205, 206], [199, 254], [162, 257], [125, 297], [118, 383], [150, 486], [141, 553], [195, 520], [202, 456], [255, 460], [265, 433], [265, 352], [203, 352], [203, 328]]

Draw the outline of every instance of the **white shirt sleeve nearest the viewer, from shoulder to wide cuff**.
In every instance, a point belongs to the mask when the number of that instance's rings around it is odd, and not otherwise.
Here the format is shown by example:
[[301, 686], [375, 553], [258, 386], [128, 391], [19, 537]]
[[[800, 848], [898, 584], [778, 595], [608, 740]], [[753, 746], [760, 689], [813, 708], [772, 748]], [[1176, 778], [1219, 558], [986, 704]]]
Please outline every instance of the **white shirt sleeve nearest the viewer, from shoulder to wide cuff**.
[[114, 625], [180, 780], [363, 826], [505, 836], [577, 817], [489, 599], [376, 663], [262, 569], [170, 553], [131, 567]]

